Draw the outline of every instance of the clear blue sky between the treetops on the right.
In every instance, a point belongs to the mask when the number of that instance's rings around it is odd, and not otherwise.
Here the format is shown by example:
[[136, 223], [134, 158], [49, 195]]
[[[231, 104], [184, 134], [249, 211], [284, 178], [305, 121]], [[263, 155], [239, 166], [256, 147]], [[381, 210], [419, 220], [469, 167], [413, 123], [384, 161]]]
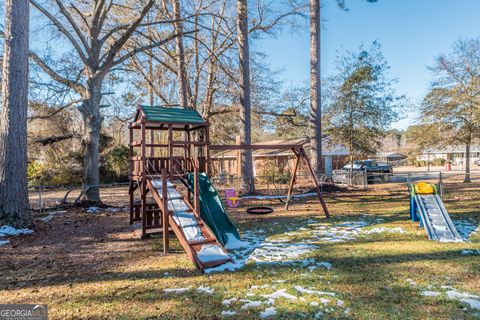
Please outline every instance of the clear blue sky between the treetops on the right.
[[[323, 0], [322, 77], [331, 75], [338, 50], [354, 50], [379, 40], [389, 65], [390, 75], [398, 78], [397, 89], [418, 103], [428, 89], [432, 65], [439, 53], [450, 52], [459, 38], [480, 35], [480, 0], [347, 0], [342, 11], [334, 0]], [[305, 30], [305, 31], [304, 31]], [[282, 68], [282, 80], [302, 83], [309, 77], [308, 28], [297, 33], [282, 32], [255, 46], [268, 54], [271, 67]], [[415, 121], [415, 111], [395, 123], [406, 128]]]

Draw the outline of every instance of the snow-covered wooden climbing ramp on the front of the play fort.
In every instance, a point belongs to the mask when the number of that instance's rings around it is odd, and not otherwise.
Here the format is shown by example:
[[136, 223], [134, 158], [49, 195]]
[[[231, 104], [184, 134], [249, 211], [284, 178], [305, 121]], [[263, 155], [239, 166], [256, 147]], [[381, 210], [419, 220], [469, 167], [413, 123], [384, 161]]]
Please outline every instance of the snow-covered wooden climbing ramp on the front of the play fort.
[[[158, 206], [163, 208], [162, 180], [148, 179], [147, 187]], [[190, 259], [200, 270], [232, 261], [199, 214], [169, 180], [167, 199], [169, 225]]]

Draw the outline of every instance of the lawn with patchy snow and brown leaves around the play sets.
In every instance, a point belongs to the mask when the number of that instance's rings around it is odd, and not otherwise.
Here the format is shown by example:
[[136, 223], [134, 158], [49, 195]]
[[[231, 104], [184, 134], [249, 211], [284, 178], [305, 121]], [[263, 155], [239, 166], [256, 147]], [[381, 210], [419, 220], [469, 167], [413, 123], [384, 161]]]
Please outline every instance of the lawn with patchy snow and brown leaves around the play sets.
[[315, 198], [288, 212], [272, 202], [268, 216], [232, 210], [251, 250], [238, 270], [209, 274], [176, 240], [166, 256], [159, 239], [139, 240], [127, 212], [59, 214], [0, 247], [0, 301], [46, 303], [51, 319], [480, 317], [478, 197], [446, 203], [465, 243], [429, 241], [406, 194], [326, 200], [330, 220]]

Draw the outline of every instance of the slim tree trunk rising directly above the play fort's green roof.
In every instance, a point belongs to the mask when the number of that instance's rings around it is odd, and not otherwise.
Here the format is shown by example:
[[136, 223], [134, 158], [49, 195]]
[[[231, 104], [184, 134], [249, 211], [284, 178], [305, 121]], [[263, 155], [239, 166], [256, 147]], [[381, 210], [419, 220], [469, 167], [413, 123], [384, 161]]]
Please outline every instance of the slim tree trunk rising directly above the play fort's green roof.
[[188, 94], [188, 78], [187, 78], [187, 68], [185, 66], [185, 49], [183, 47], [183, 23], [181, 19], [180, 11], [180, 1], [174, 0], [173, 5], [173, 14], [175, 16], [175, 33], [178, 34], [175, 39], [176, 43], [176, 54], [177, 54], [177, 78], [178, 78], [178, 98], [179, 103], [182, 108], [188, 108], [189, 106], [189, 94]]

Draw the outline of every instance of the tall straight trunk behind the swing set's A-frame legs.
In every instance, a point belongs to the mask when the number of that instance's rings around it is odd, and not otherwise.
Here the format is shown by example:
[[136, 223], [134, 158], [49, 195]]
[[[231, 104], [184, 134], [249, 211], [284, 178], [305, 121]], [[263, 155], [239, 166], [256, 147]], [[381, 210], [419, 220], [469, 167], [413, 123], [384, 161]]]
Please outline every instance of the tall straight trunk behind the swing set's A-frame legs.
[[322, 173], [322, 105], [320, 79], [320, 0], [310, 0], [310, 157]]

